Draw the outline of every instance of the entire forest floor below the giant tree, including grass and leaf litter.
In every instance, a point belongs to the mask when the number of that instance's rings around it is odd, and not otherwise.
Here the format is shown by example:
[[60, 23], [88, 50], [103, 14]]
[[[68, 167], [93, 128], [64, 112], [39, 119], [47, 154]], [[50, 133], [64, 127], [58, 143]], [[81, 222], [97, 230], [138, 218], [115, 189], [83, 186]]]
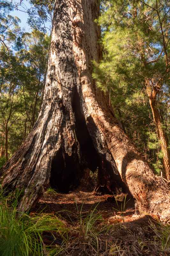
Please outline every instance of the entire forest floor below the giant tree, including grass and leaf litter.
[[0, 255], [170, 255], [168, 223], [136, 215], [133, 198], [121, 191], [100, 195], [94, 187], [82, 180], [68, 194], [48, 188], [23, 216], [17, 211], [22, 192], [1, 195]]

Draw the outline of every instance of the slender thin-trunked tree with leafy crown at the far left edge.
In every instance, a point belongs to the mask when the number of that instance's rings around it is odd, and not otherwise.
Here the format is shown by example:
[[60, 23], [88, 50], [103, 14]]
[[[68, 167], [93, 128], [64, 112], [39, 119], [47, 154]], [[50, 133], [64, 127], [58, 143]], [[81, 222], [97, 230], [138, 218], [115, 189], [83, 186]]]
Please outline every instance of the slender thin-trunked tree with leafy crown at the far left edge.
[[11, 123], [16, 118], [13, 115], [14, 109], [17, 108], [17, 94], [19, 90], [19, 81], [23, 75], [22, 65], [18, 63], [18, 57], [13, 56], [6, 48], [1, 47], [0, 51], [0, 128], [5, 138], [5, 157], [8, 160], [8, 142], [9, 130]]

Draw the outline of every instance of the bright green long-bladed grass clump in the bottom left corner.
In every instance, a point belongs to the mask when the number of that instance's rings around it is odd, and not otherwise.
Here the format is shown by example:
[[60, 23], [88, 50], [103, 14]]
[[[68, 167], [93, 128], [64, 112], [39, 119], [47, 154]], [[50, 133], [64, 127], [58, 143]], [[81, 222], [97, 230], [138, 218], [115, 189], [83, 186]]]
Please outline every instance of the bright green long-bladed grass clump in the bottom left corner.
[[[0, 191], [0, 255], [2, 256], [40, 256], [46, 247], [43, 243], [45, 231], [57, 232], [61, 236], [67, 231], [62, 221], [49, 214], [29, 216], [18, 212], [19, 197], [22, 191], [4, 196]], [[11, 201], [12, 197], [12, 201]], [[10, 200], [9, 200], [10, 198]], [[10, 202], [10, 204], [9, 204]], [[12, 204], [11, 204], [12, 202]]]

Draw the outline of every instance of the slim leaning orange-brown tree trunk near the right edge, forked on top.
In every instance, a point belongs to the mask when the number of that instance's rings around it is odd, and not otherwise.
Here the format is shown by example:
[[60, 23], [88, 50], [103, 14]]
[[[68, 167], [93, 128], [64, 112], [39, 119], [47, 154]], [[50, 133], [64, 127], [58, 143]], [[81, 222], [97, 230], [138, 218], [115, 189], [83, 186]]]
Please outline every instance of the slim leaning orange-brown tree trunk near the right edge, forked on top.
[[170, 157], [169, 157], [168, 145], [167, 145], [165, 132], [162, 129], [162, 124], [160, 121], [161, 117], [160, 117], [159, 110], [156, 103], [158, 88], [156, 86], [153, 88], [150, 88], [150, 85], [147, 84], [147, 94], [149, 96], [149, 102], [152, 109], [152, 115], [153, 115], [153, 120], [156, 126], [157, 136], [160, 141], [160, 146], [163, 152], [163, 165], [164, 165], [165, 177], [168, 181], [170, 181]]

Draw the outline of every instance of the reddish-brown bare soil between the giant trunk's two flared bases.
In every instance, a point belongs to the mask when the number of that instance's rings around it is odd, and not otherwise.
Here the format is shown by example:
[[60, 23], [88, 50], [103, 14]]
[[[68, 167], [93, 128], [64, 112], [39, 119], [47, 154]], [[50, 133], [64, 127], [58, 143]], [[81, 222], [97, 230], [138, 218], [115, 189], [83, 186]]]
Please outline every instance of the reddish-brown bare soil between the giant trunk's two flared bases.
[[84, 182], [68, 194], [46, 192], [34, 210], [53, 214], [60, 213], [66, 220], [70, 220], [70, 218], [76, 220], [76, 212], [81, 211], [85, 215], [94, 208], [100, 212], [104, 220], [110, 223], [114, 220], [115, 222], [116, 220], [127, 222], [138, 218], [135, 215], [135, 202], [132, 197], [119, 191], [119, 195], [115, 199], [114, 194], [99, 195], [93, 191], [94, 186], [88, 188]]

